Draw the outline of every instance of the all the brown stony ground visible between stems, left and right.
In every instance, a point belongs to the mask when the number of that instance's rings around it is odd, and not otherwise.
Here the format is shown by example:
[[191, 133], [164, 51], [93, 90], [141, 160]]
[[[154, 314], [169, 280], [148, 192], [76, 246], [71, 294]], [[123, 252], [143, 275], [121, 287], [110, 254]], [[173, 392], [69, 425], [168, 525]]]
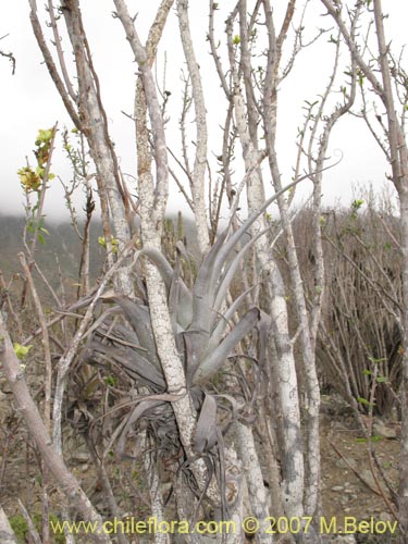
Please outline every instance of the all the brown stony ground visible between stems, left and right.
[[[30, 503], [32, 511], [39, 508], [40, 482], [37, 475], [33, 452], [26, 447], [25, 432], [10, 418], [10, 397], [0, 397], [0, 504], [8, 515], [18, 512], [17, 498]], [[9, 432], [8, 432], [9, 431]], [[381, 440], [374, 444], [379, 465], [390, 483], [396, 489], [398, 480], [399, 429], [396, 423], [375, 422], [375, 433]], [[329, 542], [348, 544], [393, 543], [392, 532], [383, 531], [394, 518], [384, 502], [382, 492], [370, 470], [367, 444], [361, 441], [350, 410], [338, 399], [322, 397], [321, 415], [321, 457], [322, 457], [322, 521], [323, 529], [332, 532], [330, 524], [335, 520], [336, 529], [344, 530], [345, 523], [368, 521], [369, 526], [358, 526], [362, 532], [351, 536], [329, 535]], [[7, 461], [7, 462], [5, 462]], [[85, 489], [92, 489], [96, 474], [86, 453], [75, 452], [71, 459], [75, 474], [84, 481]], [[383, 485], [384, 495], [390, 492]], [[101, 499], [103, 497], [101, 496]], [[148, 516], [148, 512], [146, 512]], [[370, 524], [371, 523], [371, 524]], [[333, 527], [333, 526], [332, 526]], [[346, 526], [347, 529], [347, 526]], [[363, 532], [368, 529], [368, 532]], [[375, 534], [379, 533], [379, 534]], [[22, 542], [25, 542], [24, 539]], [[61, 542], [61, 541], [60, 541]]]

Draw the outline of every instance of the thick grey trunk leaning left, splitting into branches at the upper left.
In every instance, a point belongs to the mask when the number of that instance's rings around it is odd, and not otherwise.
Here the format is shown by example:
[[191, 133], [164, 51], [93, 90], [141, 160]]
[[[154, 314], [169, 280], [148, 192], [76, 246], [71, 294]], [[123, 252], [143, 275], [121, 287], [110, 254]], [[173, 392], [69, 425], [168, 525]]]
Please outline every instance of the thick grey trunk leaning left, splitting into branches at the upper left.
[[[48, 2], [47, 8], [50, 14], [50, 25], [53, 29], [60, 70], [63, 77], [59, 75], [57, 64], [53, 61], [52, 54], [42, 35], [41, 25], [37, 15], [36, 1], [28, 0], [28, 3], [30, 5], [33, 30], [50, 76], [55, 84], [72, 121], [87, 138], [90, 153], [97, 169], [97, 182], [104, 232], [108, 233], [110, 231], [108, 218], [111, 215], [114, 235], [118, 239], [119, 250], [121, 251], [131, 238], [128, 218], [125, 209], [126, 199], [121, 185], [116, 156], [108, 132], [108, 119], [101, 101], [98, 76], [94, 70], [91, 52], [83, 27], [79, 2], [78, 0], [65, 0], [62, 2], [61, 7], [75, 55], [76, 76], [78, 82], [77, 96], [75, 96], [73, 86], [69, 81], [66, 65], [59, 42], [58, 23], [52, 1]], [[107, 236], [106, 243], [108, 262], [109, 265], [112, 265], [113, 254], [109, 236]], [[116, 283], [119, 289], [123, 294], [128, 296], [133, 295], [133, 284], [126, 272], [120, 271]]]

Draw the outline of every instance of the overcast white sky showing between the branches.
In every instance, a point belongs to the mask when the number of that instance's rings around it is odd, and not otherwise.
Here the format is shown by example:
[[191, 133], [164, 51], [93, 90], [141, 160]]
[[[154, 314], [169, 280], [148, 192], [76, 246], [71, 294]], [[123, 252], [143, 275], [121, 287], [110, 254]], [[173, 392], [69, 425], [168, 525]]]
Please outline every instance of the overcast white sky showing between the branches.
[[[41, 1], [38, 3], [40, 5]], [[220, 5], [225, 7], [227, 11], [234, 3], [231, 0], [222, 0]], [[310, 35], [314, 28], [329, 24], [327, 17], [323, 20], [319, 16], [324, 11], [320, 7], [319, 0], [312, 0], [311, 3], [312, 10], [307, 20]], [[388, 37], [393, 39], [393, 46], [398, 50], [405, 44], [408, 2], [383, 3], [384, 7], [392, 10], [387, 20]], [[146, 30], [158, 4], [158, 0], [128, 2], [129, 11], [132, 13], [138, 12], [137, 24], [141, 38], [146, 36]], [[190, 4], [196, 54], [203, 75], [209, 112], [209, 151], [219, 154], [221, 151], [219, 125], [223, 122], [226, 106], [217, 77], [212, 75], [213, 62], [206, 41], [208, 2], [191, 1]], [[299, 7], [301, 4], [302, 2], [299, 2]], [[115, 141], [123, 171], [135, 174], [133, 123], [121, 111], [132, 114], [136, 65], [133, 62], [128, 44], [124, 39], [121, 24], [111, 16], [113, 2], [111, 0], [98, 0], [98, 2], [83, 0], [82, 7], [88, 39], [94, 51], [94, 62], [101, 81], [102, 99], [110, 121], [111, 136]], [[27, 0], [8, 2], [8, 7], [2, 13], [0, 28], [0, 36], [9, 34], [9, 37], [0, 42], [1, 49], [13, 51], [17, 61], [16, 73], [12, 76], [7, 59], [0, 59], [2, 82], [0, 90], [0, 212], [21, 213], [23, 211], [22, 202], [24, 199], [16, 171], [25, 165], [26, 156], [34, 164], [32, 150], [37, 129], [50, 127], [55, 121], [59, 121], [60, 127], [64, 125], [72, 127], [47, 69], [41, 64], [41, 55], [32, 33], [28, 12]], [[224, 20], [225, 16], [223, 17], [221, 14], [220, 21]], [[180, 152], [177, 121], [182, 100], [180, 94], [181, 67], [184, 59], [176, 25], [177, 20], [173, 10], [160, 49], [159, 61], [162, 66], [164, 52], [166, 52], [165, 88], [172, 92], [169, 112], [174, 112], [168, 126], [168, 138], [173, 150]], [[221, 34], [220, 38], [223, 39]], [[283, 114], [281, 114], [279, 126], [279, 151], [281, 170], [288, 182], [295, 161], [296, 128], [301, 124], [304, 100], [312, 101], [319, 92], [322, 92], [330, 71], [330, 57], [327, 57], [330, 51], [326, 51], [325, 46], [326, 38], [323, 38], [321, 44], [300, 55], [296, 70], [281, 89], [280, 100]], [[70, 58], [67, 42], [65, 42], [64, 49]], [[159, 74], [159, 79], [161, 79], [161, 74]], [[332, 152], [335, 149], [342, 150], [344, 160], [325, 176], [324, 196], [326, 202], [333, 203], [336, 199], [342, 198], [347, 203], [351, 199], [351, 185], [354, 183], [368, 184], [372, 182], [375, 187], [385, 183], [386, 164], [372, 137], [362, 127], [362, 123], [350, 118], [342, 121], [333, 134]], [[52, 171], [69, 181], [70, 172], [61, 153], [55, 154]], [[174, 189], [171, 193], [170, 208], [176, 210], [181, 207], [183, 207], [181, 197]], [[53, 219], [65, 214], [64, 202], [57, 181], [52, 182], [48, 194], [46, 212]]]

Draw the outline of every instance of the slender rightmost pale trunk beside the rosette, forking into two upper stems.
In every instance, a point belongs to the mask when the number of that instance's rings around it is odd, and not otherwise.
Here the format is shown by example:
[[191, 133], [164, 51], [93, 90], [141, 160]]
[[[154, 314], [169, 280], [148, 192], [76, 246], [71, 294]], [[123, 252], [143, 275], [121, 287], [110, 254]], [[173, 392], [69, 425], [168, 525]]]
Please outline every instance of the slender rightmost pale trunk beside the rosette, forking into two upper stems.
[[[286, 14], [282, 27], [276, 34], [274, 21], [272, 17], [272, 8], [269, 0], [263, 0], [265, 14], [265, 24], [268, 28], [269, 49], [267, 73], [264, 78], [263, 89], [263, 128], [268, 149], [269, 166], [272, 176], [273, 186], [276, 191], [282, 189], [281, 172], [279, 168], [279, 158], [275, 150], [276, 143], [276, 113], [277, 113], [277, 85], [280, 83], [280, 64], [282, 57], [283, 42], [286, 38], [286, 33], [289, 27], [295, 10], [295, 0], [287, 3]], [[358, 15], [355, 17], [356, 24]], [[355, 29], [355, 27], [353, 26]], [[302, 372], [305, 373], [306, 382], [306, 399], [305, 399], [305, 515], [316, 517], [319, 508], [320, 494], [320, 434], [319, 434], [319, 410], [320, 410], [320, 388], [316, 367], [316, 337], [321, 313], [322, 297], [324, 293], [324, 264], [323, 250], [321, 240], [321, 182], [322, 172], [324, 170], [324, 161], [326, 160], [326, 150], [331, 132], [338, 119], [349, 111], [355, 99], [355, 75], [351, 77], [351, 90], [349, 96], [345, 96], [344, 104], [336, 104], [330, 115], [324, 114], [325, 106], [329, 96], [332, 92], [335, 75], [337, 73], [338, 46], [336, 48], [335, 58], [333, 61], [333, 72], [329, 79], [329, 85], [325, 92], [321, 96], [318, 112], [314, 115], [307, 116], [306, 127], [310, 120], [313, 120], [311, 126], [311, 135], [307, 151], [309, 177], [313, 182], [313, 226], [312, 226], [312, 251], [314, 257], [314, 281], [317, 293], [313, 294], [310, 310], [306, 304], [306, 293], [300, 272], [297, 249], [295, 245], [295, 236], [293, 232], [292, 221], [289, 218], [289, 201], [285, 196], [277, 198], [277, 205], [281, 217], [282, 230], [285, 237], [285, 248], [288, 260], [288, 270], [290, 277], [292, 296], [295, 302], [297, 314], [298, 331], [301, 345], [301, 362]], [[353, 55], [351, 65], [354, 66]], [[282, 77], [282, 76], [281, 76]], [[318, 126], [324, 122], [322, 134], [317, 137]], [[314, 160], [313, 147], [314, 141], [319, 141], [317, 159]], [[299, 153], [301, 153], [301, 138]], [[296, 176], [298, 175], [298, 166], [296, 168]]]

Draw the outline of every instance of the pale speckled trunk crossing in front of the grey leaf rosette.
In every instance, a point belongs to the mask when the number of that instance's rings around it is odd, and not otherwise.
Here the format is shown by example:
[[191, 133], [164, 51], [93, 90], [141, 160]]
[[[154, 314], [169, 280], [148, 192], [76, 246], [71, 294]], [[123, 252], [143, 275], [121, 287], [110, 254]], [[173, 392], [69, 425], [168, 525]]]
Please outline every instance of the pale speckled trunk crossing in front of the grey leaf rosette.
[[[156, 15], [146, 50], [138, 40], [134, 23], [129, 17], [126, 4], [115, 1], [118, 16], [126, 32], [127, 40], [132, 47], [137, 62], [139, 62], [144, 76], [140, 76], [136, 85], [135, 96], [135, 121], [136, 144], [138, 160], [138, 188], [140, 201], [140, 227], [144, 248], [161, 248], [162, 223], [168, 199], [168, 163], [165, 151], [165, 137], [160, 108], [156, 95], [156, 87], [151, 76], [151, 65], [156, 58], [156, 51], [160, 41], [168, 14], [174, 0], [164, 0]], [[153, 104], [151, 104], [151, 101]], [[147, 111], [154, 133], [154, 156], [157, 164], [157, 184], [151, 173], [151, 147], [149, 143]], [[187, 452], [191, 452], [193, 433], [195, 430], [195, 411], [187, 394], [184, 369], [174, 343], [166, 305], [166, 292], [158, 269], [150, 262], [146, 262], [146, 285], [149, 298], [151, 323], [157, 345], [157, 351], [161, 360], [165, 375], [168, 391], [181, 396], [173, 404], [174, 413], [181, 432], [181, 440]], [[159, 481], [156, 468], [147, 469], [148, 478], [151, 479], [150, 499], [152, 507], [162, 515], [162, 504], [159, 493]], [[161, 535], [154, 536], [159, 544]]]

